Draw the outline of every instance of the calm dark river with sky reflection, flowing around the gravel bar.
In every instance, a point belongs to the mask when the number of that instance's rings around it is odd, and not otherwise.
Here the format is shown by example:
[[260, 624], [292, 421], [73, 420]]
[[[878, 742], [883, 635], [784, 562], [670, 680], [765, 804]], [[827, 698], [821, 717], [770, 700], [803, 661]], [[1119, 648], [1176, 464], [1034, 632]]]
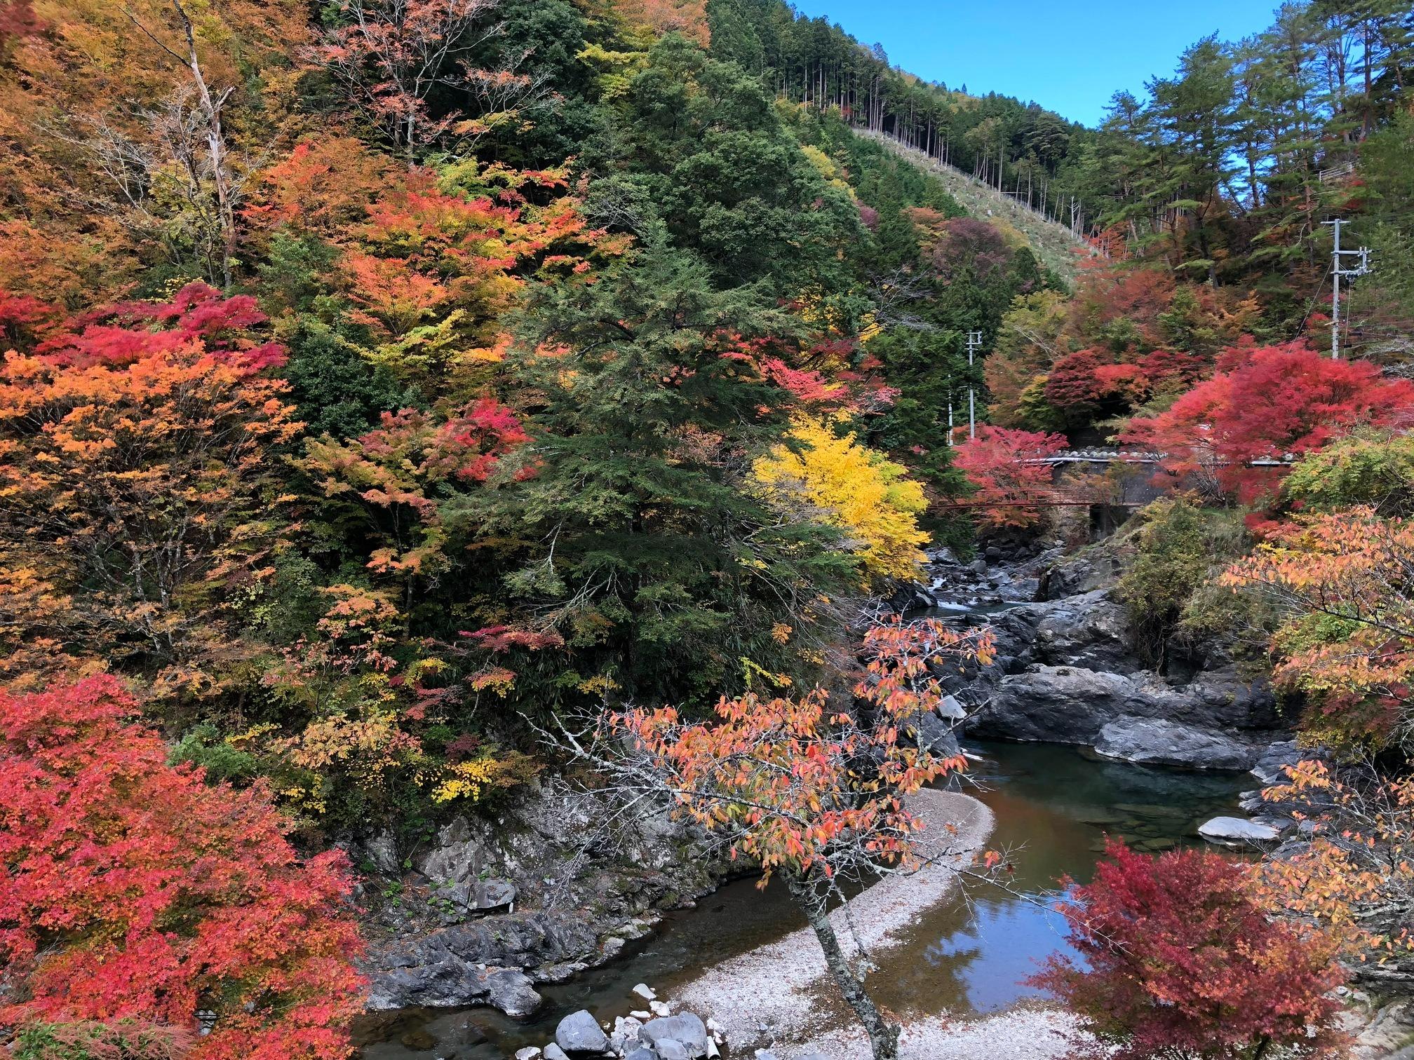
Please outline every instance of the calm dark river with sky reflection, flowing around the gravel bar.
[[[1106, 832], [1138, 849], [1199, 844], [1198, 825], [1232, 813], [1239, 791], [1256, 787], [1246, 773], [1193, 773], [1099, 760], [1089, 752], [1045, 743], [967, 745], [984, 756], [970, 776], [974, 794], [997, 815], [990, 848], [1015, 852], [1017, 890], [974, 889], [921, 917], [908, 941], [881, 955], [870, 989], [905, 1018], [950, 1011], [997, 1012], [1035, 991], [1022, 985], [1038, 961], [1065, 947], [1065, 923], [1051, 910], [1056, 881], [1087, 882]], [[737, 881], [696, 909], [669, 914], [662, 929], [615, 961], [574, 981], [540, 988], [546, 1005], [529, 1022], [493, 1009], [409, 1011], [382, 1022], [363, 1060], [495, 1060], [553, 1039], [568, 1012], [590, 1009], [601, 1022], [642, 1005], [636, 982], [663, 996], [701, 968], [745, 953], [803, 926], [785, 889]], [[485, 1040], [478, 1040], [481, 1037]]]

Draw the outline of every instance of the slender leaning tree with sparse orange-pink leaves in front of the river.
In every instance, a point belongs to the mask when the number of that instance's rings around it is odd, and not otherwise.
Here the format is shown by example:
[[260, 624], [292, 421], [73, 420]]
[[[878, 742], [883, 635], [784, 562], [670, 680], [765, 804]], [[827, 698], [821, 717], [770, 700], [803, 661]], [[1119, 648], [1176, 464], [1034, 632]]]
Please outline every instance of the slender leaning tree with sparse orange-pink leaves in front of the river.
[[[925, 823], [905, 800], [966, 766], [960, 755], [937, 755], [921, 738], [945, 695], [935, 671], [987, 664], [993, 643], [986, 632], [895, 618], [865, 635], [864, 654], [853, 707], [831, 705], [816, 688], [795, 698], [723, 698], [710, 722], [686, 721], [672, 707], [607, 712], [598, 746], [622, 746], [628, 738], [633, 753], [602, 750], [597, 760], [625, 790], [667, 796], [676, 815], [706, 830], [730, 856], [758, 864], [762, 885], [785, 878], [874, 1056], [885, 1060], [896, 1054], [898, 1027], [878, 1012], [840, 948], [827, 902], [846, 881], [918, 868]], [[571, 742], [595, 753], [584, 746]]]

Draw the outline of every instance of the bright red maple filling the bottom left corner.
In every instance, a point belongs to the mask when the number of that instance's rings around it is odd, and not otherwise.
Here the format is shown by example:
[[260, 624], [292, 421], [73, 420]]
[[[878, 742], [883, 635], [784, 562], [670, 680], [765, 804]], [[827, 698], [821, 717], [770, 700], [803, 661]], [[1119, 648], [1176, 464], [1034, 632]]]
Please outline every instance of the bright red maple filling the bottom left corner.
[[260, 787], [167, 765], [112, 677], [0, 695], [0, 1022], [209, 1033], [192, 1060], [335, 1060], [361, 1005], [342, 852]]

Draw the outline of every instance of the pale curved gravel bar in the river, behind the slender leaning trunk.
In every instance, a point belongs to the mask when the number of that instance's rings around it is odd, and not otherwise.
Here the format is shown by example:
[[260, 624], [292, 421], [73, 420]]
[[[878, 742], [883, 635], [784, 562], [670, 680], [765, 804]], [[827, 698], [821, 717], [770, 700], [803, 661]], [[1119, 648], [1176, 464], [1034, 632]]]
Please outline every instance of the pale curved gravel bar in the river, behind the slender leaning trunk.
[[[922, 849], [930, 858], [946, 856], [911, 876], [889, 876], [853, 899], [847, 910], [837, 909], [831, 920], [846, 953], [854, 948], [855, 936], [871, 953], [901, 941], [919, 913], [957, 886], [954, 866], [980, 848], [993, 830], [991, 810], [954, 791], [921, 791], [912, 800], [912, 810], [928, 824]], [[851, 1022], [809, 929], [707, 970], [676, 989], [674, 1001], [711, 1013], [738, 1050], [748, 1043], [800, 1042]], [[923, 1025], [919, 1027], [922, 1033]], [[840, 1057], [868, 1053], [867, 1047], [864, 1053], [836, 1053], [823, 1042], [819, 1047]], [[1019, 1060], [1022, 1054], [1015, 1056]]]

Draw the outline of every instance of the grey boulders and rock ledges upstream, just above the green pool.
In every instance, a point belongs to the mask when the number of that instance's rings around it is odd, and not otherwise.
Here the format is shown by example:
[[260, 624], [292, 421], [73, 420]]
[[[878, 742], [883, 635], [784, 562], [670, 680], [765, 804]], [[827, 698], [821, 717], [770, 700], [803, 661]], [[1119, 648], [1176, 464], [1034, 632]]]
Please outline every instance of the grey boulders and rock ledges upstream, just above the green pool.
[[935, 602], [959, 620], [984, 618], [997, 637], [991, 666], [950, 678], [967, 734], [1195, 769], [1251, 769], [1285, 735], [1271, 688], [1243, 676], [1225, 646], [1185, 646], [1169, 676], [1141, 663], [1113, 598], [1120, 563], [1103, 547], [991, 551], [967, 565], [932, 557]]

